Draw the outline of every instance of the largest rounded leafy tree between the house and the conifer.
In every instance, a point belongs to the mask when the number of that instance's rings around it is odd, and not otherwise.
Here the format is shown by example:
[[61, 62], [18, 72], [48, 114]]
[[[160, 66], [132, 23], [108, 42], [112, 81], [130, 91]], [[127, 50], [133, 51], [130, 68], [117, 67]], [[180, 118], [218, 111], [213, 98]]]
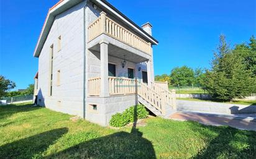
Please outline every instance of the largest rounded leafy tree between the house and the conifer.
[[171, 70], [170, 80], [172, 85], [194, 84], [194, 71], [188, 66], [175, 67]]

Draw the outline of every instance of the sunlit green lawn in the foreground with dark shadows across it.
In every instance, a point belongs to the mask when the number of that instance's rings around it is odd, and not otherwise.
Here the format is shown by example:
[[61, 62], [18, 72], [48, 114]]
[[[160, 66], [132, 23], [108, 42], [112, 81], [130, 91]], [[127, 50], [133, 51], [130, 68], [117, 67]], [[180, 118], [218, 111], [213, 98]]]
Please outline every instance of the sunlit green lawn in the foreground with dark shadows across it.
[[32, 105], [0, 106], [0, 158], [255, 158], [256, 132], [145, 119], [109, 129]]

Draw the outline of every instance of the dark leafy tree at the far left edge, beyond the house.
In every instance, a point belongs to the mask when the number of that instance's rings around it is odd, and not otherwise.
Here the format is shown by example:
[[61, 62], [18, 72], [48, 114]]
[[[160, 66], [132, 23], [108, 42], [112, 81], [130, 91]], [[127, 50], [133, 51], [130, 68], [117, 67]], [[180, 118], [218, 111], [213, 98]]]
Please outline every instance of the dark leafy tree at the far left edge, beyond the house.
[[4, 76], [0, 75], [0, 98], [6, 95], [7, 90], [11, 90], [16, 87], [16, 84]]

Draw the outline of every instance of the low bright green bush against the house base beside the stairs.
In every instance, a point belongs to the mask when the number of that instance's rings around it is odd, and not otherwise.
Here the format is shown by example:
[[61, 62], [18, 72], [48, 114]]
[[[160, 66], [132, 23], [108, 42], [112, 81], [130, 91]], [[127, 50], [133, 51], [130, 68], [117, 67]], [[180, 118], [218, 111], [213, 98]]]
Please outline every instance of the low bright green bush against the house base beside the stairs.
[[[136, 115], [134, 112], [136, 112]], [[148, 115], [149, 112], [143, 105], [131, 106], [130, 108], [126, 109], [124, 113], [114, 114], [109, 121], [109, 124], [114, 127], [122, 127], [129, 124], [129, 122], [134, 122], [134, 118], [144, 119], [147, 118]]]

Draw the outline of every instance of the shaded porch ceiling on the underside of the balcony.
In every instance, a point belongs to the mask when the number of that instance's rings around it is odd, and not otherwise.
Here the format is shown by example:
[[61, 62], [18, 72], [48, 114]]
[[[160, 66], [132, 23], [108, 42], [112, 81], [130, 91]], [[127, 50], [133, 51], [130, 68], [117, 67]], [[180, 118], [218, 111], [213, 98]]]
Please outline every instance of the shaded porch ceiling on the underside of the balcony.
[[[98, 43], [89, 49], [93, 50], [93, 51], [100, 52], [100, 45]], [[126, 49], [119, 48], [116, 45], [112, 45], [111, 43], [109, 43], [109, 45], [108, 45], [108, 54], [110, 56], [114, 56], [114, 57], [121, 58], [121, 59], [124, 58], [124, 55], [125, 55], [127, 61], [131, 61], [131, 62], [135, 62], [135, 63], [145, 62], [145, 61], [149, 60], [147, 58], [139, 56], [138, 54], [127, 51]]]

